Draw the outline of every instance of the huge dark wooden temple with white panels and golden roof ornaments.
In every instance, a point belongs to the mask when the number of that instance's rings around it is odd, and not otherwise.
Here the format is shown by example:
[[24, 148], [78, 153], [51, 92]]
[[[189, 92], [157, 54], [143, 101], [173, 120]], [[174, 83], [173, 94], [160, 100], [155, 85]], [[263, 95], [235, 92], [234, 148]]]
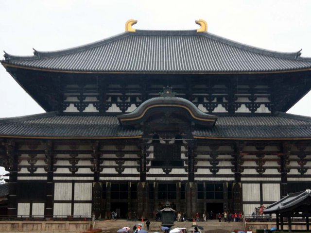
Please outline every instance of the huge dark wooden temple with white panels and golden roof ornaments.
[[[311, 58], [136, 30], [2, 66], [46, 111], [0, 119], [10, 216], [252, 214], [311, 187]], [[310, 107], [310, 106], [306, 106]]]

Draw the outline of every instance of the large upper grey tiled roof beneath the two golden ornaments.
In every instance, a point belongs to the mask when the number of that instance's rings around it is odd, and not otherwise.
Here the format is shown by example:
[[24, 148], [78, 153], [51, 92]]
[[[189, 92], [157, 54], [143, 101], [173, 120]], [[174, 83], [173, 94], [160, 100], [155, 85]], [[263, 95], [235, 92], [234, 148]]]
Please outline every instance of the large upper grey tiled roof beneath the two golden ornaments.
[[191, 31], [125, 32], [68, 50], [19, 57], [5, 53], [5, 66], [86, 72], [271, 72], [310, 69], [300, 51], [282, 53]]

